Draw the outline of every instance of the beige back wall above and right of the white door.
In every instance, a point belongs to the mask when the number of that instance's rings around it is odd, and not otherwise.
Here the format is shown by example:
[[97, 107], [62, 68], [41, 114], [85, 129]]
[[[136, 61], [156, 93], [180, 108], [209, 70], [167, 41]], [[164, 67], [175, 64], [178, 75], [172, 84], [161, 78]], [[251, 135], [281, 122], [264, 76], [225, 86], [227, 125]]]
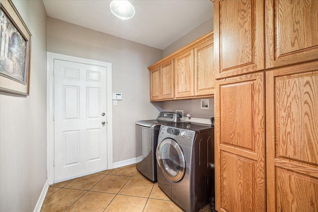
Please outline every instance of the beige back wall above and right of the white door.
[[162, 51], [58, 19], [48, 18], [48, 51], [112, 63], [112, 92], [123, 100], [113, 105], [113, 162], [135, 158], [135, 122], [156, 119], [149, 101], [147, 67]]

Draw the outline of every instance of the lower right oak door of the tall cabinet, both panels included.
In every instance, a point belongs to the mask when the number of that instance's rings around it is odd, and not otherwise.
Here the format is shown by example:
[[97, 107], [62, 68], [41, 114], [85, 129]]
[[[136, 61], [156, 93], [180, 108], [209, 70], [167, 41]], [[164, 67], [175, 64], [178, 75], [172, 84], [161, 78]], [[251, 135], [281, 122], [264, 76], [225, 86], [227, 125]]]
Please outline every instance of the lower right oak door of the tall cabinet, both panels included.
[[318, 63], [266, 72], [267, 211], [318, 210]]

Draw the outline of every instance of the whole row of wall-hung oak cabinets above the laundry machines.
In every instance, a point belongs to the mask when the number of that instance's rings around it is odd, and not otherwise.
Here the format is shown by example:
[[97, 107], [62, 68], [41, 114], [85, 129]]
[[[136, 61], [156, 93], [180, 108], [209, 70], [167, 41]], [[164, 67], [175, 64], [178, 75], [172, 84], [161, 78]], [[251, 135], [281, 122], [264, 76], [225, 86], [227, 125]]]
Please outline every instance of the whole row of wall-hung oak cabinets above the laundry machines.
[[154, 65], [150, 71], [150, 100], [206, 98], [214, 95], [213, 31]]

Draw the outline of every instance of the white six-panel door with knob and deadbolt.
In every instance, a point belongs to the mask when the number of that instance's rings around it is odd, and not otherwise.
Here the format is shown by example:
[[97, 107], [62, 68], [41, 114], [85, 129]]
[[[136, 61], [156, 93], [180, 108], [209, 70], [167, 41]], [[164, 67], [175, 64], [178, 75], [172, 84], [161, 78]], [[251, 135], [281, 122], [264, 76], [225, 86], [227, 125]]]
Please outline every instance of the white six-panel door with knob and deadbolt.
[[107, 169], [106, 68], [54, 60], [54, 182]]

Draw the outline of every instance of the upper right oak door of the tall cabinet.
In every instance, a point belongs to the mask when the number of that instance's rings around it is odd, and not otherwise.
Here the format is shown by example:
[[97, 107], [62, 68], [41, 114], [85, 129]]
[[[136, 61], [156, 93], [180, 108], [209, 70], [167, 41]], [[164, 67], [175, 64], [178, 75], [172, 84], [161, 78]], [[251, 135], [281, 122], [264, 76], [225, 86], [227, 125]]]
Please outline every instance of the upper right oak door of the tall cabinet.
[[266, 0], [266, 68], [318, 59], [318, 1]]

